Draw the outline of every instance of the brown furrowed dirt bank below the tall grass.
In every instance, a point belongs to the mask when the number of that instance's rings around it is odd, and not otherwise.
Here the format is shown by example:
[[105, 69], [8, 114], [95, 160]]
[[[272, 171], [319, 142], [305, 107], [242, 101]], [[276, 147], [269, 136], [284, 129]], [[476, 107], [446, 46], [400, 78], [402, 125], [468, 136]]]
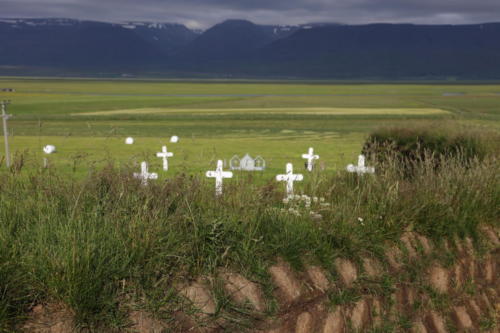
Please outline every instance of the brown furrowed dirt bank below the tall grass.
[[[499, 233], [491, 227], [482, 232], [487, 241], [480, 252], [470, 238], [447, 241], [443, 248], [408, 232], [388, 247], [383, 260], [338, 258], [334, 274], [317, 266], [296, 272], [278, 260], [268, 269], [273, 297], [265, 297], [262, 286], [246, 277], [221, 270], [216, 277], [178, 287], [193, 311], [177, 313], [170, 323], [133, 311], [130, 326], [119, 331], [500, 332]], [[435, 259], [443, 250], [456, 254], [448, 265]], [[381, 288], [388, 279], [393, 283]], [[214, 281], [245, 309], [250, 327], [234, 328], [234, 321], [218, 315]], [[64, 307], [38, 305], [23, 330], [66, 333], [74, 328]]]

